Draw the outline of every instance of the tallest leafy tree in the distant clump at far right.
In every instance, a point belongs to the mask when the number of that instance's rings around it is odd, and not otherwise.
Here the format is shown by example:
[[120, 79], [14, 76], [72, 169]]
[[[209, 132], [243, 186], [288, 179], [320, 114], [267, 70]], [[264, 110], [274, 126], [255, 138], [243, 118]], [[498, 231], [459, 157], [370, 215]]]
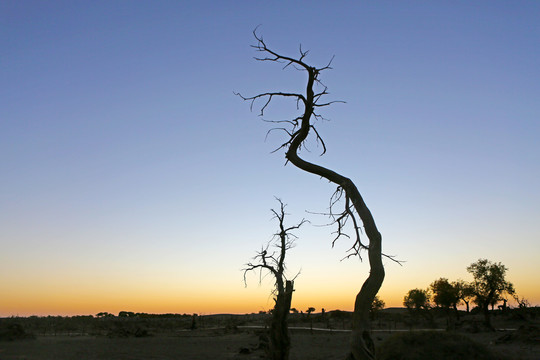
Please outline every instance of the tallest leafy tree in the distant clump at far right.
[[474, 302], [484, 313], [484, 321], [489, 328], [492, 328], [489, 305], [505, 293], [514, 294], [514, 286], [506, 280], [507, 270], [502, 263], [493, 263], [487, 259], [479, 259], [467, 267], [467, 271], [474, 277], [472, 282]]

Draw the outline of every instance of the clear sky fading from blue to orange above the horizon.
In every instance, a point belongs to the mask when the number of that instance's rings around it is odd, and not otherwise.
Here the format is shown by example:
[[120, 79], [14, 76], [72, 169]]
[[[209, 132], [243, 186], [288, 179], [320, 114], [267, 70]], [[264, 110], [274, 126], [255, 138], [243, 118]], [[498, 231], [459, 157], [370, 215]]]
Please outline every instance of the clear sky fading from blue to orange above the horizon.
[[[286, 203], [292, 306], [352, 310], [369, 267], [245, 96], [301, 92], [252, 31], [331, 70], [302, 156], [351, 178], [383, 236], [379, 296], [501, 262], [540, 305], [538, 1], [0, 1], [0, 316], [250, 313], [245, 264]], [[275, 102], [264, 119], [297, 115]], [[512, 303], [510, 303], [512, 305]]]

